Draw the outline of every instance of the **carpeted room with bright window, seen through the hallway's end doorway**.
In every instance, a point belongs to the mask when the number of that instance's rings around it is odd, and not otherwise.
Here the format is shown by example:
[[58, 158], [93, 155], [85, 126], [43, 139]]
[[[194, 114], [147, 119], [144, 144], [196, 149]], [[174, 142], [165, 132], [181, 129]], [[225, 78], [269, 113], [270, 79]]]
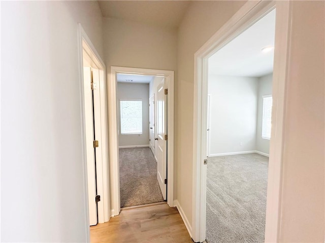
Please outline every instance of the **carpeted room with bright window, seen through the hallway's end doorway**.
[[163, 77], [117, 74], [121, 208], [164, 201], [154, 149], [154, 97], [161, 80]]

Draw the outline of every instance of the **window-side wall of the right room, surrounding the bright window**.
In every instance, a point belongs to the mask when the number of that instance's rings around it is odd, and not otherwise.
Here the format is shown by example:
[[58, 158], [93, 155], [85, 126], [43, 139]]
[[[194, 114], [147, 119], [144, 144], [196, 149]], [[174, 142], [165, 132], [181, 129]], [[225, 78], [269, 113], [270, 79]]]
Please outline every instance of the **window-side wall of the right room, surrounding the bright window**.
[[263, 119], [263, 96], [272, 95], [273, 74], [262, 76], [258, 79], [258, 104], [257, 104], [257, 128], [256, 128], [256, 149], [259, 152], [269, 154], [270, 140], [262, 138]]

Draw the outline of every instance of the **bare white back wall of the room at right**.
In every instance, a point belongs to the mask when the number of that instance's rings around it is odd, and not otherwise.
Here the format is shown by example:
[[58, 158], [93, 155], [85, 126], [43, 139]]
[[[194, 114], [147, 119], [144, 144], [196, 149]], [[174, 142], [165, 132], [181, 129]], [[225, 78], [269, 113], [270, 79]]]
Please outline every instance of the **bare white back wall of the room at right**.
[[256, 150], [258, 78], [209, 75], [208, 80], [209, 155]]

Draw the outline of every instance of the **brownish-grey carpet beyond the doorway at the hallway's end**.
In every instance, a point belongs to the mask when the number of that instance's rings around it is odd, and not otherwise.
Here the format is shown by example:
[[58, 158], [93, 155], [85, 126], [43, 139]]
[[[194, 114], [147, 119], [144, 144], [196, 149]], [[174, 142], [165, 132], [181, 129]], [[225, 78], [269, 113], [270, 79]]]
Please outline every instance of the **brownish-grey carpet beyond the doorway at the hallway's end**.
[[164, 201], [149, 147], [120, 148], [119, 162], [121, 208]]

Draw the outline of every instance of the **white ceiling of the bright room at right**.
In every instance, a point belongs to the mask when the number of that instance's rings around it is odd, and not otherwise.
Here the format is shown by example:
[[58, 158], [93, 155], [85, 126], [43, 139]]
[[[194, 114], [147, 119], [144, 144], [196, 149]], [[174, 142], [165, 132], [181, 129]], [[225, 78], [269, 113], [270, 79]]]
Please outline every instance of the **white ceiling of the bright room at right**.
[[275, 10], [249, 27], [209, 58], [209, 74], [260, 77], [273, 71]]

